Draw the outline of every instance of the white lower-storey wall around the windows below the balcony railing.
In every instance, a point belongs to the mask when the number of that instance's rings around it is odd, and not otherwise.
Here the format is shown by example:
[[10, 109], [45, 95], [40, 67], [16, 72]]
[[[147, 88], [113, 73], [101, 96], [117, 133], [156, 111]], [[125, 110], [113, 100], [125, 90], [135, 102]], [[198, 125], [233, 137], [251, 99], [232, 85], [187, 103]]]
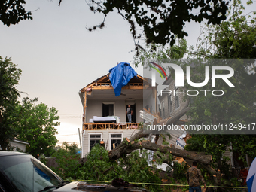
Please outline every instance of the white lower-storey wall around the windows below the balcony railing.
[[130, 138], [132, 135], [137, 133], [139, 130], [84, 130], [83, 133], [83, 151], [82, 151], [82, 157], [85, 157], [85, 155], [90, 151], [90, 134], [101, 134], [101, 140], [105, 142], [105, 147], [107, 150], [110, 150], [110, 134], [109, 133], [122, 133], [122, 139], [123, 138]]

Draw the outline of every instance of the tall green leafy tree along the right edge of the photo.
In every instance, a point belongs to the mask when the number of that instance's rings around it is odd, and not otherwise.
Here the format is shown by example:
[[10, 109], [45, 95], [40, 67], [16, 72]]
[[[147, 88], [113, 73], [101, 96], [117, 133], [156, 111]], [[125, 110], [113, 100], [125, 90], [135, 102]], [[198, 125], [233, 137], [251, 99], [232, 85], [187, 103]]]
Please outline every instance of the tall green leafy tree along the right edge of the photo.
[[[251, 4], [248, 1], [248, 4]], [[223, 96], [194, 97], [190, 111], [190, 124], [239, 124], [254, 123], [256, 118], [256, 66], [254, 65], [256, 43], [255, 17], [243, 14], [245, 7], [241, 1], [233, 1], [228, 11], [228, 20], [216, 26], [206, 25], [204, 38], [193, 56], [203, 58], [222, 58], [225, 66], [234, 69], [235, 75], [230, 81], [235, 87], [228, 87], [224, 81], [218, 81], [216, 90], [224, 90]], [[225, 59], [224, 59], [225, 58]], [[227, 59], [237, 59], [236, 62]], [[240, 59], [246, 58], [250, 60]], [[198, 74], [204, 74], [204, 66], [197, 67]], [[220, 72], [221, 73], [221, 72]], [[222, 72], [223, 73], [223, 72]], [[194, 73], [196, 74], [196, 73]], [[203, 82], [203, 77], [194, 75], [194, 82]], [[200, 87], [209, 90], [210, 87]], [[195, 89], [195, 87], [193, 88]], [[230, 132], [231, 133], [231, 132]], [[204, 151], [212, 154], [218, 169], [222, 166], [221, 157], [227, 146], [232, 145], [233, 152], [245, 162], [245, 156], [256, 157], [253, 148], [256, 146], [254, 135], [200, 135], [188, 141], [187, 150]], [[203, 145], [202, 145], [203, 144]]]

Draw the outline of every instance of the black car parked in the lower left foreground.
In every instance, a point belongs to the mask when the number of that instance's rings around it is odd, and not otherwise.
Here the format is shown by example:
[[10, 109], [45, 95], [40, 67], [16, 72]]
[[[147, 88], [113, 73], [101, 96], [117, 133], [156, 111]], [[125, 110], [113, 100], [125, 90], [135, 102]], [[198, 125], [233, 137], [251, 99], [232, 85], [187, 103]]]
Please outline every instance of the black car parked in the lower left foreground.
[[77, 192], [77, 191], [146, 191], [144, 189], [87, 184], [74, 181], [66, 184], [55, 172], [32, 157], [15, 151], [0, 151], [0, 192]]

